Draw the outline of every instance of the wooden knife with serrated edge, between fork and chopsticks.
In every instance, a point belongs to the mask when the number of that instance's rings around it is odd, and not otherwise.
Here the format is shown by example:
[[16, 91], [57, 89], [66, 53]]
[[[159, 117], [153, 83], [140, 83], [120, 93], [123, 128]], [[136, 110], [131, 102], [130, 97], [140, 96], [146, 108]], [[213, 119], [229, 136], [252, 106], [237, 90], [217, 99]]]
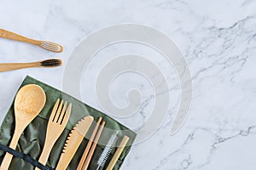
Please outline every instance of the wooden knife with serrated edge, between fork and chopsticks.
[[93, 116], [84, 116], [76, 125], [67, 137], [66, 144], [62, 150], [61, 158], [55, 170], [65, 170], [72, 160], [79, 145], [84, 139], [85, 134], [93, 122]]

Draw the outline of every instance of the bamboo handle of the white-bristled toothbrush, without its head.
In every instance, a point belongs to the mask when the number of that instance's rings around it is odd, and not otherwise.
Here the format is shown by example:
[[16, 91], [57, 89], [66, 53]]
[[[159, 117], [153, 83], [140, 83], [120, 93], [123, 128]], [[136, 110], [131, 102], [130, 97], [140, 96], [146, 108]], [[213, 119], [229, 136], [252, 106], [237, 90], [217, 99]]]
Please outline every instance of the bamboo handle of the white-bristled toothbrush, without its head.
[[0, 29], [0, 37], [6, 38], [6, 39], [9, 39], [9, 40], [19, 41], [19, 42], [28, 42], [28, 43], [32, 43], [32, 44], [35, 44], [35, 45], [40, 45], [40, 43], [41, 43], [40, 41], [33, 40], [33, 39], [30, 39], [30, 38], [27, 38], [27, 37], [23, 37], [23, 36], [20, 36], [19, 34], [16, 34], [16, 33], [11, 32], [11, 31], [6, 31], [6, 30], [3, 30], [3, 29]]

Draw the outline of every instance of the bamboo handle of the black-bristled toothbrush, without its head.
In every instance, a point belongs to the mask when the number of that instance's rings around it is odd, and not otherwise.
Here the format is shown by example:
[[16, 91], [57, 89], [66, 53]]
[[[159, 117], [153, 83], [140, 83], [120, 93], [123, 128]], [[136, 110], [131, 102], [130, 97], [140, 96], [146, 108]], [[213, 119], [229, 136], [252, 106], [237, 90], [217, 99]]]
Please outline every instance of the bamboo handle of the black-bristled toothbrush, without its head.
[[0, 72], [3, 71], [14, 71], [23, 68], [31, 68], [31, 67], [38, 67], [40, 66], [40, 62], [34, 63], [3, 63], [0, 64]]

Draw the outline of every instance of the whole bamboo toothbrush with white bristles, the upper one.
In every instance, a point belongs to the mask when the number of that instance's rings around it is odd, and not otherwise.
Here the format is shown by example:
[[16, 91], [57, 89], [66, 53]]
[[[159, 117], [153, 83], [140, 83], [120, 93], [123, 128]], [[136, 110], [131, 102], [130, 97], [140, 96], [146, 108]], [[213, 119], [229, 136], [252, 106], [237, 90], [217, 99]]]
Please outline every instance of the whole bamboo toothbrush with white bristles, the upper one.
[[62, 46], [55, 42], [33, 40], [31, 38], [23, 37], [14, 32], [6, 31], [3, 29], [0, 29], [0, 37], [10, 39], [10, 40], [19, 41], [19, 42], [32, 43], [34, 45], [37, 45], [41, 48], [47, 49], [47, 50], [55, 52], [55, 53], [61, 53], [63, 51]]

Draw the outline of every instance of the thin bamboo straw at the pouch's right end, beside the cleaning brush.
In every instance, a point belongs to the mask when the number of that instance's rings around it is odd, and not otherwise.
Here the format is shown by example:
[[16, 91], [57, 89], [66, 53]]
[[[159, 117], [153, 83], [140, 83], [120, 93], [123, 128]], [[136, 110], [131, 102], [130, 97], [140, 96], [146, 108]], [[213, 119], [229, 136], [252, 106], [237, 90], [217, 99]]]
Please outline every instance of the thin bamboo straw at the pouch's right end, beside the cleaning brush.
[[119, 156], [121, 156], [121, 153], [123, 152], [123, 150], [125, 149], [125, 145], [128, 143], [129, 141], [129, 137], [125, 136], [124, 139], [121, 141], [121, 144], [119, 144], [119, 148], [115, 151], [112, 160], [110, 161], [110, 163], [108, 164], [108, 167], [106, 170], [112, 170], [115, 163], [118, 161]]

